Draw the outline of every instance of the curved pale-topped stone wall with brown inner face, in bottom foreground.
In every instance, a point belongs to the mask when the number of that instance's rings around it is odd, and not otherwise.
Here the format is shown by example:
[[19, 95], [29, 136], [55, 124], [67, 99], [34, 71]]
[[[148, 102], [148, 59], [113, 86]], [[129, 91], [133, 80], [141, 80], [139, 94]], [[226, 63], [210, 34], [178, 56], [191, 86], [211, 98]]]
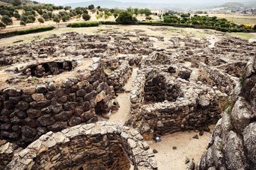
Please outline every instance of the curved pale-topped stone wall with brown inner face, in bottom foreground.
[[157, 169], [153, 157], [137, 131], [97, 122], [40, 136], [6, 169]]

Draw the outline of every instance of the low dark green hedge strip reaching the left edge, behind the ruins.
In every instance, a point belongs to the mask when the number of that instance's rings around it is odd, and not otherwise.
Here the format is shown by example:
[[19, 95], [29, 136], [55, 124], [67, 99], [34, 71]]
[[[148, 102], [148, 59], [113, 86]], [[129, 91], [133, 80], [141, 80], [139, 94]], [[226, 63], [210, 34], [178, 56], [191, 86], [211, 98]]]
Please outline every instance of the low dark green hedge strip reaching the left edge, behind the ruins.
[[31, 33], [38, 33], [38, 32], [43, 32], [43, 31], [50, 31], [55, 29], [55, 27], [50, 26], [50, 27], [42, 27], [42, 28], [31, 28], [28, 30], [22, 30], [22, 31], [11, 31], [7, 33], [1, 33], [0, 38], [5, 38], [5, 37], [13, 37], [17, 35], [24, 35], [24, 34], [31, 34]]

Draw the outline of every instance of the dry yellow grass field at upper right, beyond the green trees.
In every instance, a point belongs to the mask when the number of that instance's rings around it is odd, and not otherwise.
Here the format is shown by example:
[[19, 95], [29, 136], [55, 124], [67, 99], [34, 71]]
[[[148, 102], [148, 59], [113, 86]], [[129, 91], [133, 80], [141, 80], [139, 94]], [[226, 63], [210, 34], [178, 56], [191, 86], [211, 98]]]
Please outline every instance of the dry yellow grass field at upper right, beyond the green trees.
[[229, 21], [235, 22], [237, 24], [249, 24], [256, 25], [256, 16], [245, 16], [238, 14], [224, 14], [224, 13], [209, 13], [209, 14], [201, 14], [201, 16], [217, 16], [218, 18], [225, 18]]

